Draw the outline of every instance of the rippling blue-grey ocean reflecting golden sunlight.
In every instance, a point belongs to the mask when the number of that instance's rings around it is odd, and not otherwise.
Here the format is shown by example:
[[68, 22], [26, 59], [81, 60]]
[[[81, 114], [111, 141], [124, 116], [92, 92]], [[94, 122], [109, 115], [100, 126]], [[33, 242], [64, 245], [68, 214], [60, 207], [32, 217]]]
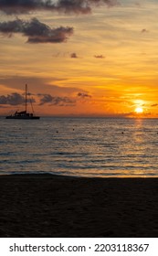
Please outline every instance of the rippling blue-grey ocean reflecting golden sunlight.
[[0, 118], [0, 175], [158, 176], [158, 119]]

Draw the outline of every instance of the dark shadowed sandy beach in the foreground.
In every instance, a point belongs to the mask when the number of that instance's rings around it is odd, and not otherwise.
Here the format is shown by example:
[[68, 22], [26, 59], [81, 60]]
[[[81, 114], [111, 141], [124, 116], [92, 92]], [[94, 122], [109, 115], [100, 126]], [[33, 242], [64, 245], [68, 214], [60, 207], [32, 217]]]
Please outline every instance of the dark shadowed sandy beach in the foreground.
[[158, 237], [157, 178], [0, 176], [0, 237]]

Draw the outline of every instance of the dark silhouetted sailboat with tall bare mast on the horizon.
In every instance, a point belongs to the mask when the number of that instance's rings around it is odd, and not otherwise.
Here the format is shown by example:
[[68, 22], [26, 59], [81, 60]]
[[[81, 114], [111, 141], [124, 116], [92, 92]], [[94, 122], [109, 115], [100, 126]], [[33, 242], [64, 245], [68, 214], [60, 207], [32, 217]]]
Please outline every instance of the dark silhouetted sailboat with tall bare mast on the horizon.
[[[26, 85], [26, 96], [27, 96], [27, 85]], [[31, 103], [31, 105], [32, 105], [32, 103]], [[7, 115], [6, 117], [5, 117], [6, 119], [39, 119], [40, 118], [40, 116], [36, 116], [36, 115], [34, 115], [34, 113], [29, 113], [29, 112], [27, 112], [27, 99], [26, 99], [26, 109], [25, 109], [25, 111], [23, 111], [23, 112], [15, 112], [14, 114], [11, 114], [11, 115]]]

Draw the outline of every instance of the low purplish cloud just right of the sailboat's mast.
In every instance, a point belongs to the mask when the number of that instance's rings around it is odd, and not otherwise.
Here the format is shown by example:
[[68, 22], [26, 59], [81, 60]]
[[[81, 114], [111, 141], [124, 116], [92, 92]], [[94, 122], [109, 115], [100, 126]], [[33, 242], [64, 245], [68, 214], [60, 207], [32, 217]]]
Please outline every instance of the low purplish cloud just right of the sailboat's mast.
[[53, 97], [50, 94], [38, 94], [38, 96], [43, 96], [40, 99], [39, 105], [50, 103], [50, 105], [54, 106], [74, 106], [76, 104], [75, 99], [71, 99], [68, 97]]

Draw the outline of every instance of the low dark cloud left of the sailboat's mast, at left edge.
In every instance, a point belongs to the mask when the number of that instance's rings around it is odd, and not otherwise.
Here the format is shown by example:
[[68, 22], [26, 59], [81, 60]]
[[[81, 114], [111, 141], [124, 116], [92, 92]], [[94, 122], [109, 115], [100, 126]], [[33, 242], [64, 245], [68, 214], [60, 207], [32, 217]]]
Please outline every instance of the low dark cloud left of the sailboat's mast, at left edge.
[[25, 102], [24, 96], [19, 93], [12, 93], [10, 95], [1, 95], [0, 96], [0, 104], [1, 105], [20, 105]]

